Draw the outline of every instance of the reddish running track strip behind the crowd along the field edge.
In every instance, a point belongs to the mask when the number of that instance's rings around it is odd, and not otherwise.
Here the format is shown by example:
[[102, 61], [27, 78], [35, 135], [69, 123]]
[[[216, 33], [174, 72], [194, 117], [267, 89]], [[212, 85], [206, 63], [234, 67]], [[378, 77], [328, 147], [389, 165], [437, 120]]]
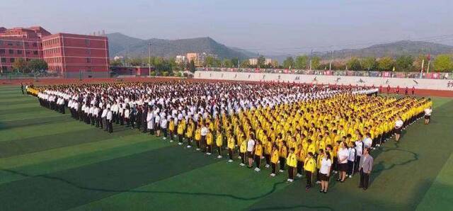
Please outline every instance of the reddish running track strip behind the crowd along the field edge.
[[[142, 77], [128, 77], [128, 78], [96, 78], [96, 79], [0, 79], [1, 85], [20, 85], [23, 84], [96, 84], [96, 83], [112, 83], [112, 82], [151, 82], [151, 81], [172, 81], [178, 80], [173, 77], [156, 77], [156, 78], [142, 78]], [[207, 79], [188, 79], [190, 81], [219, 81]], [[259, 82], [257, 82], [259, 83]], [[395, 93], [396, 89], [393, 87], [389, 93]], [[400, 93], [404, 94], [405, 89], [400, 89]], [[411, 89], [409, 89], [411, 94]], [[386, 87], [382, 89], [382, 93], [387, 93]], [[453, 90], [432, 90], [432, 89], [415, 89], [417, 96], [439, 96], [439, 97], [453, 97]]]

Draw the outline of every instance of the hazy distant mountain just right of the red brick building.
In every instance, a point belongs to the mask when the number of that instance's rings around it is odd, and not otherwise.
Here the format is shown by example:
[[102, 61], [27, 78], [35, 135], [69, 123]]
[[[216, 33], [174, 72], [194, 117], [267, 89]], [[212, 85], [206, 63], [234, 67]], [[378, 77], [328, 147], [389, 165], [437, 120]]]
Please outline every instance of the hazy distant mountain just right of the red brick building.
[[207, 52], [215, 54], [219, 58], [248, 58], [249, 56], [238, 48], [227, 47], [216, 42], [212, 38], [190, 38], [180, 40], [150, 39], [142, 40], [132, 38], [122, 33], [111, 33], [107, 35], [110, 57], [132, 56], [146, 57], [148, 55], [148, 43], [151, 42], [151, 56], [176, 57], [185, 55], [187, 52]]

